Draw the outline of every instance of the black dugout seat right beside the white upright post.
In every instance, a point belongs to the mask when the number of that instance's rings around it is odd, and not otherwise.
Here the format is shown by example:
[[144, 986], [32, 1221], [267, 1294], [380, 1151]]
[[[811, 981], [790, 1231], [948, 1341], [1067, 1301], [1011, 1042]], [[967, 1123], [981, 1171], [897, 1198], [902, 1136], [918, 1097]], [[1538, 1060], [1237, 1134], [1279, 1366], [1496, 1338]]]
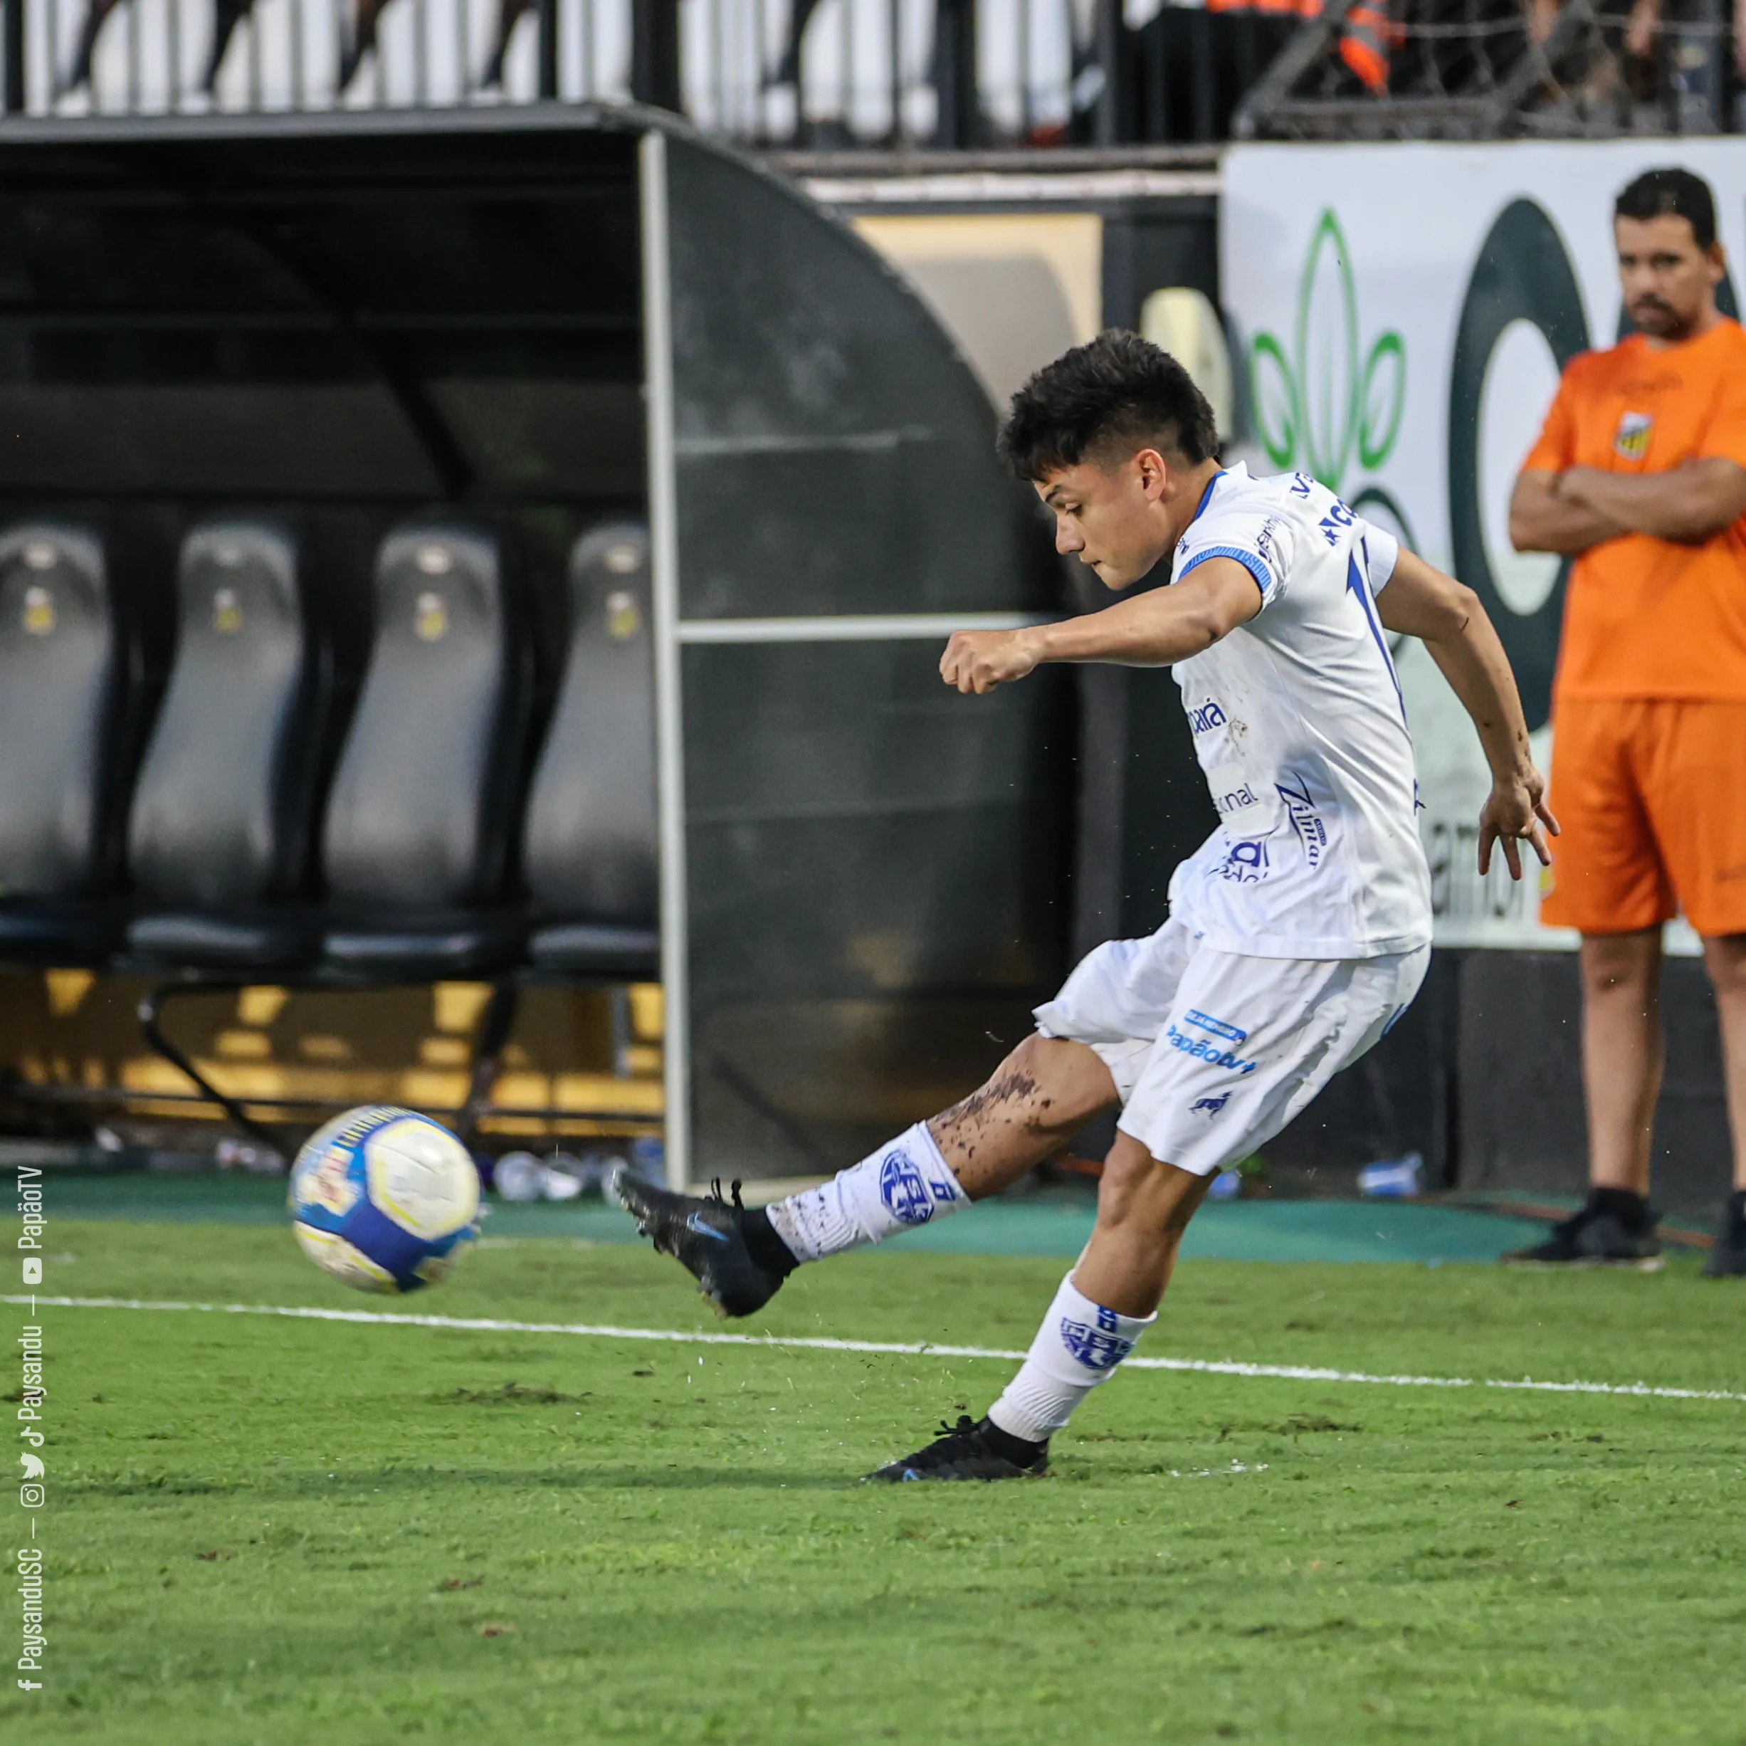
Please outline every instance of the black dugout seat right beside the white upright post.
[[527, 798], [540, 969], [658, 973], [655, 819], [648, 529], [609, 522], [571, 552], [564, 677]]

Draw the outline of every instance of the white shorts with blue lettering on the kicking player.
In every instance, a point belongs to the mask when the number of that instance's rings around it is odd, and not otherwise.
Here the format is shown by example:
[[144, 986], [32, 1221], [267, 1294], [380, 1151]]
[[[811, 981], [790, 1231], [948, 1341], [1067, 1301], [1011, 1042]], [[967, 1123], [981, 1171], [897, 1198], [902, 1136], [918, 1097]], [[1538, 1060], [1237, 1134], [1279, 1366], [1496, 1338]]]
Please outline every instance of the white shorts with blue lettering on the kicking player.
[[1206, 1177], [1273, 1138], [1407, 1009], [1430, 946], [1379, 959], [1213, 952], [1175, 918], [1112, 939], [1037, 1007], [1044, 1037], [1090, 1044], [1123, 1133]]

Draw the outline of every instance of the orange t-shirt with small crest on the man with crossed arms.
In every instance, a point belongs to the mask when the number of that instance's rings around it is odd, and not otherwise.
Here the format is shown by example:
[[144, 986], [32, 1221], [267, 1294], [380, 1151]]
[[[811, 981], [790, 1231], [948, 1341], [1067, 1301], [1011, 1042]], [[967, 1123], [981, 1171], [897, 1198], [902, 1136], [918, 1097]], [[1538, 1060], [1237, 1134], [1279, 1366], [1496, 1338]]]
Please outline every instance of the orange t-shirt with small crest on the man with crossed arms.
[[[1666, 473], [1746, 466], [1746, 330], [1723, 318], [1683, 346], [1641, 333], [1564, 367], [1524, 468]], [[1746, 515], [1699, 546], [1622, 534], [1570, 569], [1559, 697], [1746, 702]]]

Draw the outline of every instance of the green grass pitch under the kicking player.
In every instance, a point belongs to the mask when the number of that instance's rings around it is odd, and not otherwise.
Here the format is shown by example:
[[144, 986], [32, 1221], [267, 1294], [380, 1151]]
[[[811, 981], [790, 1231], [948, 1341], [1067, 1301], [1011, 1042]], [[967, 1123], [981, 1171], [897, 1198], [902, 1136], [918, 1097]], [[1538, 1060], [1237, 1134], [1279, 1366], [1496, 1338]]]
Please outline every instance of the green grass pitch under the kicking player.
[[[1060, 1273], [854, 1255], [753, 1330], [1023, 1346]], [[402, 1308], [210, 1224], [59, 1220], [42, 1289]], [[405, 1308], [718, 1325], [670, 1262], [548, 1240]], [[40, 1322], [49, 1652], [7, 1741], [1746, 1739], [1746, 1402], [1128, 1372], [1049, 1479], [871, 1488], [1011, 1365]], [[1200, 1261], [1142, 1350], [1741, 1390], [1743, 1330], [1690, 1261]]]

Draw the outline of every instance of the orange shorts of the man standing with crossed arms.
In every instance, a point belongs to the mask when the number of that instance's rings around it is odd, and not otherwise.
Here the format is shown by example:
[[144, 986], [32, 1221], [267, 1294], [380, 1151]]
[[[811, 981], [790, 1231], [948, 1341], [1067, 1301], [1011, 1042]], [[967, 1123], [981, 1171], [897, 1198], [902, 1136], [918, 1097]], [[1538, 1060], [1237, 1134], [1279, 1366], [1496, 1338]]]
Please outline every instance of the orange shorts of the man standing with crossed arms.
[[1746, 704], [1568, 698], [1554, 709], [1552, 889], [1585, 934], [1746, 932]]

